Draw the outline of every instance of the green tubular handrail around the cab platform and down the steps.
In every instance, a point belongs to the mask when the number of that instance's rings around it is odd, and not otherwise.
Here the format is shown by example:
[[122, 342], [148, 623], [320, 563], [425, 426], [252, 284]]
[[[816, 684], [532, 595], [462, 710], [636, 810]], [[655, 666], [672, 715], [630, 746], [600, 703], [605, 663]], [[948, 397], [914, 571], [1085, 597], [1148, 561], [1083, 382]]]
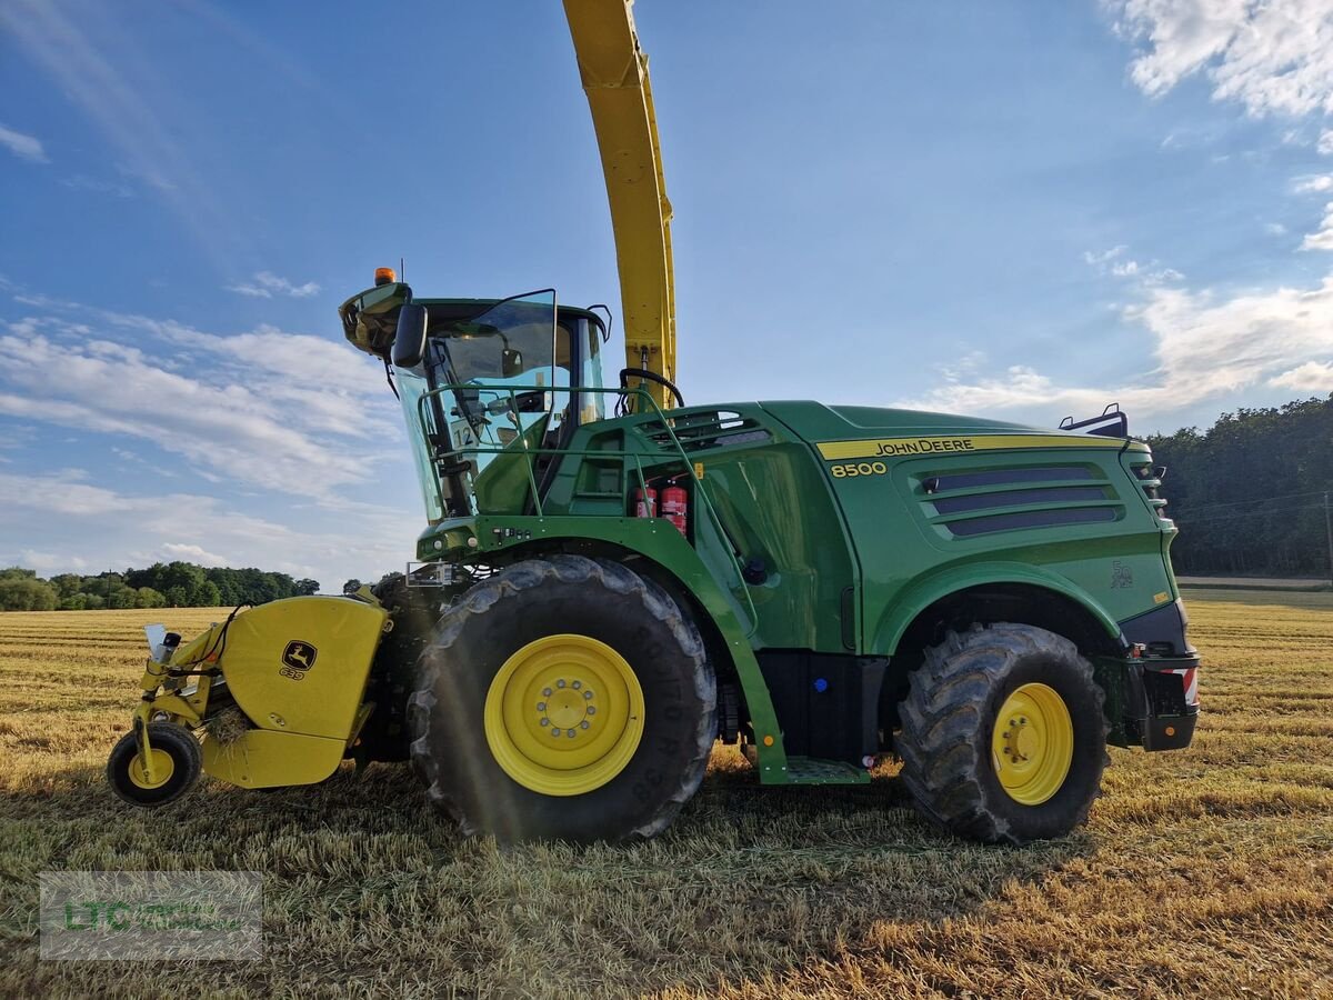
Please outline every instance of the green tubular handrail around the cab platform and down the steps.
[[[471, 384], [469, 383], [448, 383], [448, 384], [439, 385], [439, 387], [436, 387], [433, 389], [429, 389], [429, 391], [421, 393], [421, 397], [417, 400], [417, 420], [421, 424], [421, 433], [424, 436], [427, 433], [427, 431], [425, 431], [425, 428], [427, 428], [427, 423], [425, 423], [425, 401], [428, 399], [444, 396], [445, 393], [456, 393], [460, 389], [480, 391], [480, 392], [492, 392], [492, 393], [495, 393], [497, 396], [507, 395], [508, 396], [509, 408], [511, 408], [511, 411], [516, 416], [520, 412], [519, 408], [517, 408], [517, 397], [519, 397], [520, 393], [527, 395], [527, 393], [531, 393], [531, 392], [541, 392], [541, 393], [547, 393], [547, 392], [551, 392], [551, 393], [564, 392], [564, 393], [571, 393], [572, 395], [572, 393], [576, 393], [576, 392], [577, 393], [593, 392], [593, 393], [603, 393], [603, 395], [611, 395], [611, 393], [627, 395], [627, 393], [631, 393], [631, 395], [641, 397], [643, 400], [647, 401], [647, 405], [649, 407], [649, 411], [640, 411], [640, 409], [636, 408], [633, 416], [629, 417], [629, 419], [633, 420], [633, 424], [636, 427], [639, 424], [649, 424], [649, 423], [657, 423], [657, 424], [661, 425], [661, 428], [666, 432], [668, 437], [670, 439], [672, 444], [674, 445], [676, 457], [680, 459], [681, 465], [685, 469], [685, 475], [690, 476], [694, 480], [694, 483], [697, 484], [697, 489], [694, 491], [694, 496], [696, 496], [696, 500], [698, 501], [698, 505], [701, 505], [704, 508], [704, 511], [706, 512], [709, 521], [712, 523], [713, 528], [717, 532], [717, 536], [720, 539], [722, 539], [724, 541], [729, 539], [726, 528], [722, 525], [721, 517], [717, 516], [717, 511], [713, 507], [713, 501], [708, 497], [708, 491], [704, 488], [704, 480], [701, 477], [698, 477], [698, 476], [694, 475], [694, 463], [685, 453], [684, 447], [681, 447], [680, 439], [676, 436], [676, 431], [672, 428], [672, 425], [670, 425], [670, 423], [668, 420], [666, 413], [661, 409], [661, 407], [657, 405], [657, 400], [655, 400], [652, 397], [652, 393], [649, 393], [647, 389], [644, 389], [644, 388], [621, 389], [619, 387], [617, 388], [607, 388], [607, 387], [577, 387], [577, 388], [576, 387], [569, 387], [569, 388], [559, 388], [559, 387], [555, 387], [555, 385], [477, 385], [476, 383], [471, 383]], [[551, 411], [548, 411], [548, 413], [549, 412]], [[425, 440], [429, 441], [429, 437], [427, 437]], [[612, 449], [532, 448], [528, 444], [528, 439], [527, 439], [527, 436], [524, 433], [524, 428], [523, 428], [521, 421], [519, 421], [519, 437], [517, 437], [517, 440], [520, 440], [523, 443], [523, 447], [521, 447], [520, 452], [529, 459], [529, 461], [525, 463], [525, 469], [527, 469], [527, 473], [528, 473], [528, 485], [529, 485], [529, 488], [532, 491], [533, 509], [536, 509], [539, 517], [545, 516], [545, 513], [544, 513], [543, 507], [541, 507], [541, 491], [537, 487], [537, 477], [533, 473], [533, 464], [531, 461], [531, 459], [535, 457], [535, 456], [537, 456], [537, 455], [580, 455], [580, 456], [595, 456], [595, 457], [601, 457], [601, 459], [615, 459], [615, 460], [620, 460], [620, 461], [624, 461], [624, 460], [632, 457], [635, 460], [635, 471], [636, 471], [637, 477], [639, 477], [639, 487], [645, 493], [648, 491], [648, 481], [644, 477], [643, 456], [639, 455], [639, 453], [636, 453], [636, 452], [612, 451]], [[511, 441], [511, 445], [512, 445], [512, 441]], [[456, 448], [453, 451], [453, 453], [455, 455], [513, 455], [516, 452], [509, 451], [511, 445], [480, 445], [479, 444], [479, 445], [469, 445], [469, 447], [465, 447], [465, 448]], [[435, 456], [432, 456], [432, 457], [435, 457]], [[431, 463], [431, 472], [435, 476], [435, 488], [440, 493], [441, 505], [443, 505], [443, 499], [444, 497], [443, 497], [443, 489], [441, 489], [441, 485], [440, 485], [440, 471], [439, 471], [439, 465], [437, 465], [436, 461]], [[599, 516], [599, 515], [591, 515], [591, 516]], [[736, 572], [736, 580], [740, 584], [741, 593], [744, 595], [745, 607], [749, 611], [749, 633], [753, 633], [754, 628], [758, 624], [758, 612], [754, 609], [754, 601], [750, 597], [749, 591], [745, 587], [745, 575], [744, 575], [744, 571], [741, 569], [740, 560], [736, 557], [736, 555], [737, 553], [730, 549], [730, 545], [728, 545], [726, 547], [726, 557], [730, 560], [732, 569], [734, 569], [734, 572]]]

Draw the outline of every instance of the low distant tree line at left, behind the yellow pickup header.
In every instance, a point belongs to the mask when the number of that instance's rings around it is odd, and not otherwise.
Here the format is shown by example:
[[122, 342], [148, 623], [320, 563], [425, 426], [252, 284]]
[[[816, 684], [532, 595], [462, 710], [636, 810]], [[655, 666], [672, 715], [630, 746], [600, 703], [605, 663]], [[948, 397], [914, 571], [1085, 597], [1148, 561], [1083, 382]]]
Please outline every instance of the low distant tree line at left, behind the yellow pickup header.
[[95, 611], [101, 608], [213, 608], [263, 604], [316, 593], [319, 580], [295, 580], [263, 569], [153, 563], [147, 569], [96, 575], [0, 569], [0, 611]]

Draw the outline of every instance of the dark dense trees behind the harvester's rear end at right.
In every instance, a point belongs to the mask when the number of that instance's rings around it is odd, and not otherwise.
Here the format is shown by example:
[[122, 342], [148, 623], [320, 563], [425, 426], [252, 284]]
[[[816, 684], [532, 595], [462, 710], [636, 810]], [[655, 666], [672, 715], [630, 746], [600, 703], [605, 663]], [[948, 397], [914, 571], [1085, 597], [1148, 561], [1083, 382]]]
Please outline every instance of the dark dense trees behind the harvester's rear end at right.
[[1177, 573], [1329, 579], [1333, 395], [1145, 440], [1166, 467]]

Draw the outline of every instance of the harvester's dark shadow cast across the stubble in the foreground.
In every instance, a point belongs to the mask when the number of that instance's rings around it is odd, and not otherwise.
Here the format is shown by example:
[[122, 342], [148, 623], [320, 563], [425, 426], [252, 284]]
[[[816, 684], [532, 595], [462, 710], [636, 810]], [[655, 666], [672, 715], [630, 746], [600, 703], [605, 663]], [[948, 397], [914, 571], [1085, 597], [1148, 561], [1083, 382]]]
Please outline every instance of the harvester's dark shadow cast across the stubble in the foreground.
[[[43, 789], [5, 792], [0, 808], [12, 832], [0, 861], [19, 883], [9, 903], [20, 923], [35, 915], [37, 871], [260, 871], [265, 931], [272, 923], [312, 961], [369, 936], [391, 964], [431, 948], [460, 983], [512, 995], [543, 995], [532, 983], [544, 973], [527, 956], [571, 948], [583, 968], [600, 969], [592, 992], [781, 977], [881, 948], [885, 927], [910, 935], [965, 916], [1096, 849], [1085, 833], [972, 844], [920, 819], [890, 775], [760, 788], [752, 771], [716, 756], [666, 833], [627, 845], [464, 837], [401, 765], [344, 765], [323, 784], [275, 792], [204, 780], [156, 811], [121, 804], [99, 768], [77, 768]], [[409, 931], [423, 911], [451, 913], [448, 933]], [[15, 957], [36, 963], [35, 936]], [[276, 987], [303, 973], [279, 961], [265, 975]], [[549, 985], [579, 992], [573, 981]]]

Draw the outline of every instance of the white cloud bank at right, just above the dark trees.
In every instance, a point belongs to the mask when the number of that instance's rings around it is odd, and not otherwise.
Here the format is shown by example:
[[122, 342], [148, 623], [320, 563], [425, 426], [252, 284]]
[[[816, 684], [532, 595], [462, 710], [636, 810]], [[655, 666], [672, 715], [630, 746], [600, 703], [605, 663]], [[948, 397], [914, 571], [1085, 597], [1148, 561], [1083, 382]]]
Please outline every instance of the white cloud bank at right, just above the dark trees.
[[[1278, 288], [1221, 297], [1213, 292], [1148, 287], [1124, 311], [1154, 340], [1157, 364], [1130, 384], [1060, 384], [1029, 365], [992, 377], [945, 375], [945, 384], [897, 405], [950, 412], [1058, 408], [1077, 413], [1118, 400], [1132, 413], [1169, 413], [1266, 383], [1318, 388], [1333, 349], [1333, 275], [1313, 289]], [[1297, 384], [1300, 381], [1300, 384]], [[1326, 383], [1324, 383], [1326, 385]]]

